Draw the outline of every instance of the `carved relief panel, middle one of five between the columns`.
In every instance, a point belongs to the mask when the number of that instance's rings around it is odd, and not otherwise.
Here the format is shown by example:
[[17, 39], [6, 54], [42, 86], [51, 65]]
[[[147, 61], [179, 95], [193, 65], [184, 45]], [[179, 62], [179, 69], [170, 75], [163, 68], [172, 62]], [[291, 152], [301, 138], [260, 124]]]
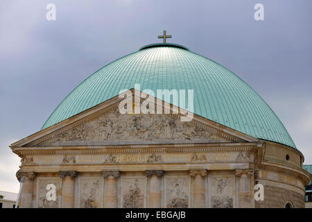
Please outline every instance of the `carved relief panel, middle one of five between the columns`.
[[123, 208], [146, 207], [146, 177], [130, 178], [124, 176], [121, 183]]

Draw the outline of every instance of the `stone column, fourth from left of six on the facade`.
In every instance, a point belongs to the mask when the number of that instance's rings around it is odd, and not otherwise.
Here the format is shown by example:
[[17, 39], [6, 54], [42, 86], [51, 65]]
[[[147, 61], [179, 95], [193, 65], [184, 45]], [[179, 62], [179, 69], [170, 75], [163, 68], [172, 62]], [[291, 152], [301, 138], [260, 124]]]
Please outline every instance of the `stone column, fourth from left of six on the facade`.
[[161, 178], [164, 171], [146, 171], [146, 176], [150, 178], [150, 198], [148, 207], [160, 208], [162, 207], [162, 193], [160, 187], [162, 186]]

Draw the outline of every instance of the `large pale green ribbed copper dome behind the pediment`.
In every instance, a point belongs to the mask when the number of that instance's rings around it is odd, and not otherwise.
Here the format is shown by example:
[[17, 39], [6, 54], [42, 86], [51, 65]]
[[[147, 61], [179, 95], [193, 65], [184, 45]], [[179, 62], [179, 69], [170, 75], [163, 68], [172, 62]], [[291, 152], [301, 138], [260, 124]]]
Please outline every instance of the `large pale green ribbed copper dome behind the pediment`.
[[121, 89], [193, 89], [194, 113], [242, 133], [295, 148], [283, 124], [241, 78], [177, 44], [150, 44], [89, 76], [58, 105], [42, 129], [83, 112]]

